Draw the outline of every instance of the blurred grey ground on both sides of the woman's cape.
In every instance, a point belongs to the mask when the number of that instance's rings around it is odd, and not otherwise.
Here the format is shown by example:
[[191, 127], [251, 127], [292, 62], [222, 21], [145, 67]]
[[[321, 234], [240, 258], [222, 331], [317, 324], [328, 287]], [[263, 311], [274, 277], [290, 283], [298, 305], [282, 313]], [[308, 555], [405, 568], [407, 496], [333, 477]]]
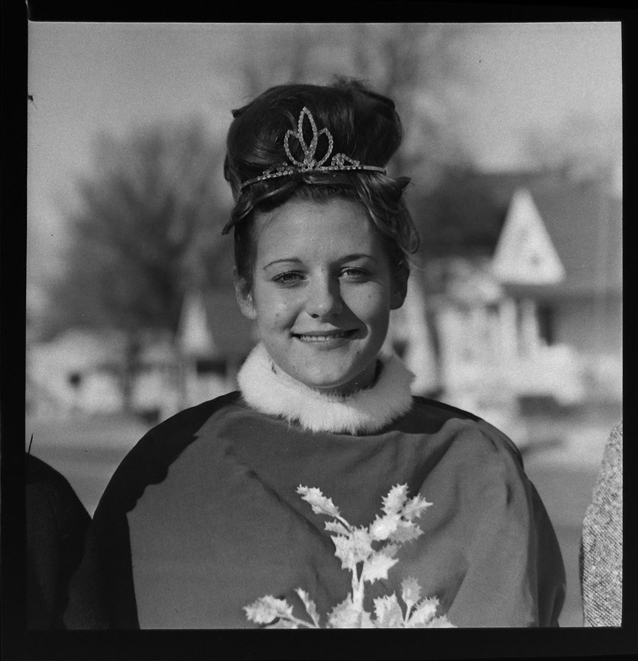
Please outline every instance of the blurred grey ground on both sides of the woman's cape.
[[[528, 430], [523, 448], [525, 470], [549, 512], [565, 563], [562, 627], [582, 627], [578, 576], [582, 521], [604, 443], [619, 418], [618, 407], [564, 416], [535, 415], [519, 421]], [[28, 420], [26, 444], [33, 434], [32, 453], [65, 475], [93, 514], [116, 466], [148, 429], [147, 423], [117, 416]], [[514, 432], [511, 435], [515, 440]]]

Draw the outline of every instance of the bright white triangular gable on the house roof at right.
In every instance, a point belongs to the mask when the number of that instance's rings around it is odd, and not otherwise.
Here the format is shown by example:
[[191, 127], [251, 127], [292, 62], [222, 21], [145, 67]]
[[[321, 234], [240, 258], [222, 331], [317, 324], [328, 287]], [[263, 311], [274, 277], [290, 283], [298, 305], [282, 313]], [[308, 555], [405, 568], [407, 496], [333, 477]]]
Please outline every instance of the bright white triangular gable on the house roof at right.
[[549, 232], [527, 189], [513, 194], [492, 260], [502, 283], [555, 284], [565, 269]]

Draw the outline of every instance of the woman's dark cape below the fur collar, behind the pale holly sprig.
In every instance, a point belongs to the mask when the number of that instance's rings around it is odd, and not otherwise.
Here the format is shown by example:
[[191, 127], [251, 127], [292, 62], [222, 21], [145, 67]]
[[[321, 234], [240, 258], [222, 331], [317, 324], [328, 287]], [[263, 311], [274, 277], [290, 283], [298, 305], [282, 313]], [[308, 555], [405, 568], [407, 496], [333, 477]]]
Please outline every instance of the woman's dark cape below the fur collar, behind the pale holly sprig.
[[458, 627], [555, 626], [564, 600], [556, 537], [511, 441], [484, 421], [415, 398], [372, 434], [308, 432], [239, 393], [151, 430], [116, 470], [94, 531], [116, 628], [253, 628], [242, 607], [267, 594], [323, 616], [350, 574], [295, 492], [319, 487], [368, 525], [392, 485], [432, 507], [371, 598], [414, 576]]

